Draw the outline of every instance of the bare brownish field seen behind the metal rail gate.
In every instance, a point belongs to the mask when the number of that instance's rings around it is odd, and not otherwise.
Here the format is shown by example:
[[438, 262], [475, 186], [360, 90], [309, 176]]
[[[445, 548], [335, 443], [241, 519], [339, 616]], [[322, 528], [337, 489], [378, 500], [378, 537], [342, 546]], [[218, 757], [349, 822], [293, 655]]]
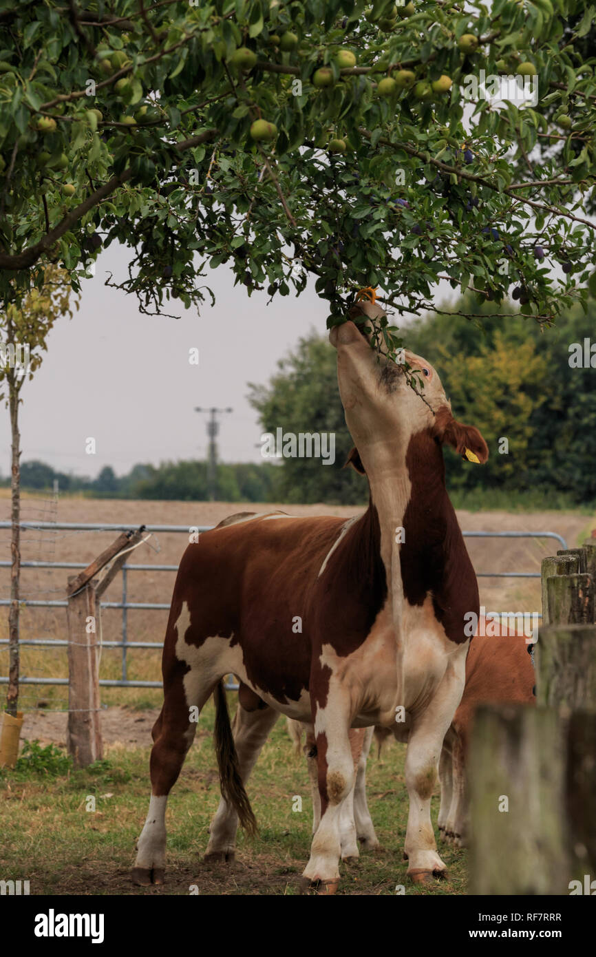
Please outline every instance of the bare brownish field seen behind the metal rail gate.
[[[2, 490], [6, 492], [8, 490]], [[42, 518], [40, 502], [33, 497], [24, 501], [23, 518], [35, 520]], [[237, 502], [184, 502], [184, 501], [124, 501], [124, 500], [88, 500], [63, 499], [59, 501], [57, 520], [60, 522], [84, 523], [126, 523], [130, 528], [141, 524], [179, 524], [210, 525], [220, 522], [226, 516], [240, 511], [273, 511], [276, 508], [294, 515], [338, 515], [346, 518], [358, 509], [353, 506], [293, 505], [283, 504], [239, 504]], [[10, 517], [9, 501], [6, 496], [0, 499], [0, 517]], [[577, 545], [589, 534], [594, 521], [577, 512], [543, 511], [533, 514], [506, 512], [458, 512], [460, 526], [469, 531], [553, 531], [563, 535], [567, 545]], [[0, 555], [3, 560], [10, 558], [10, 532], [0, 532]], [[115, 532], [33, 532], [23, 533], [22, 558], [24, 561], [79, 562], [87, 565], [99, 552], [116, 537]], [[137, 548], [131, 554], [129, 563], [148, 566], [177, 566], [187, 545], [184, 534], [154, 535], [149, 543]], [[533, 571], [539, 572], [541, 558], [554, 554], [559, 543], [553, 540], [537, 539], [471, 539], [466, 540], [470, 555], [477, 572], [482, 571]], [[159, 548], [159, 551], [155, 550]], [[23, 597], [26, 600], [50, 599], [63, 600], [67, 577], [76, 574], [73, 569], [24, 569]], [[170, 600], [175, 572], [131, 571], [128, 574], [128, 600], [133, 602], [163, 602]], [[540, 612], [541, 590], [539, 579], [479, 578], [480, 600], [489, 611], [496, 612]], [[3, 598], [9, 595], [9, 570], [0, 569], [0, 591]], [[105, 601], [121, 600], [121, 576], [117, 576], [107, 590]], [[3, 638], [7, 637], [6, 615], [3, 615]], [[128, 612], [128, 640], [162, 641], [166, 629], [166, 611], [132, 610]], [[24, 608], [22, 612], [21, 636], [64, 638], [66, 612], [62, 608]], [[102, 640], [121, 640], [121, 610], [105, 609], [102, 612]], [[0, 674], [8, 671], [8, 650], [0, 646]], [[61, 649], [22, 648], [22, 674], [30, 678], [66, 677], [66, 652]], [[101, 656], [100, 676], [103, 679], [121, 678], [121, 650], [104, 648]], [[160, 679], [159, 651], [137, 650], [128, 654], [128, 677], [138, 680]], [[22, 706], [25, 712], [36, 711], [39, 701], [45, 702], [48, 709], [61, 710], [67, 706], [67, 689], [53, 685], [23, 686]], [[135, 707], [157, 706], [160, 692], [143, 688], [103, 688], [102, 702], [107, 705], [133, 705]], [[42, 703], [42, 707], [43, 707]], [[37, 714], [39, 712], [37, 711]], [[48, 721], [41, 723], [27, 720], [27, 731], [39, 731], [49, 727]], [[56, 740], [55, 734], [49, 740]], [[61, 737], [61, 736], [59, 736]], [[134, 736], [126, 735], [131, 744]]]

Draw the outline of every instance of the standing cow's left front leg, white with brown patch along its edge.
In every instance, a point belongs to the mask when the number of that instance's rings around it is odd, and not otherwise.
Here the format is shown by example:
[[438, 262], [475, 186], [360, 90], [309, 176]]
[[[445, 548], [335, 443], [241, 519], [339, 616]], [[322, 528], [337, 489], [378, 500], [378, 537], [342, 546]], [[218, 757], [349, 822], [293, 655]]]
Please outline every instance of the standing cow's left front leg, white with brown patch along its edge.
[[[322, 698], [322, 696], [321, 696]], [[313, 701], [320, 795], [320, 824], [311, 845], [303, 877], [319, 882], [323, 893], [334, 894], [340, 881], [343, 803], [354, 786], [354, 761], [348, 736], [349, 702], [341, 694]], [[345, 821], [345, 818], [344, 818]], [[353, 827], [352, 816], [352, 827]]]

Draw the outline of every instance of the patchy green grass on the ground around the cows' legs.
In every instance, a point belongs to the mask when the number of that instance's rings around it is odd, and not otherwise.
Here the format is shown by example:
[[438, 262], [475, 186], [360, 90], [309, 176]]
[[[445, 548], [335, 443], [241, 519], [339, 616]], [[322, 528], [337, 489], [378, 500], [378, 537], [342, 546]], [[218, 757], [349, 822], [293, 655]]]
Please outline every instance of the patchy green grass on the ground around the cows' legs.
[[[219, 784], [211, 735], [213, 709], [201, 716], [194, 746], [172, 790], [166, 825], [166, 884], [135, 887], [129, 869], [143, 827], [149, 796], [148, 748], [111, 746], [103, 761], [84, 770], [64, 764], [58, 749], [31, 746], [14, 770], [0, 771], [0, 879], [29, 879], [38, 894], [297, 894], [298, 879], [309, 856], [312, 803], [306, 762], [293, 755], [279, 721], [263, 748], [249, 784], [259, 822], [254, 840], [238, 836], [233, 865], [207, 865], [202, 856], [210, 818], [219, 801]], [[44, 750], [47, 752], [45, 758]], [[50, 753], [51, 751], [51, 753]], [[467, 853], [439, 848], [449, 881], [415, 886], [406, 879], [402, 859], [408, 796], [404, 783], [405, 746], [387, 746], [381, 761], [368, 763], [368, 803], [384, 848], [363, 854], [355, 865], [341, 865], [341, 894], [395, 894], [403, 884], [408, 895], [466, 893]], [[293, 812], [293, 798], [302, 811]], [[95, 797], [96, 811], [87, 811]], [[438, 798], [432, 815], [436, 833]]]

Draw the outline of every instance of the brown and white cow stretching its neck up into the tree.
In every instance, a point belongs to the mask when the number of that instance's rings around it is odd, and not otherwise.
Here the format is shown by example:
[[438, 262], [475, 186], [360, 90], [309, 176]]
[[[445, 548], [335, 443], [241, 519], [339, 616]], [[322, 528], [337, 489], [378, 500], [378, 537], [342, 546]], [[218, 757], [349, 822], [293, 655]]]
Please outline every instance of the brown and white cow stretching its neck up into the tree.
[[[384, 315], [368, 302], [355, 310], [368, 319]], [[464, 687], [464, 616], [478, 614], [478, 590], [441, 446], [462, 456], [470, 450], [479, 461], [488, 450], [474, 427], [455, 421], [436, 371], [420, 356], [406, 353], [423, 395], [354, 323], [329, 338], [370, 487], [368, 508], [347, 522], [245, 515], [188, 546], [164, 644], [165, 701], [153, 728], [152, 796], [133, 872], [140, 883], [164, 879], [167, 795], [194, 737], [193, 712], [211, 694], [222, 794], [249, 829], [244, 781], [255, 741], [266, 739], [276, 712], [314, 724], [321, 817], [303, 877], [331, 891], [339, 880], [342, 804], [354, 780], [348, 731], [394, 728], [405, 709], [408, 875], [445, 876], [430, 796]], [[251, 720], [236, 727], [235, 740], [222, 686], [230, 672], [266, 704], [247, 711]], [[225, 829], [212, 829], [208, 853], [225, 856], [227, 847]]]

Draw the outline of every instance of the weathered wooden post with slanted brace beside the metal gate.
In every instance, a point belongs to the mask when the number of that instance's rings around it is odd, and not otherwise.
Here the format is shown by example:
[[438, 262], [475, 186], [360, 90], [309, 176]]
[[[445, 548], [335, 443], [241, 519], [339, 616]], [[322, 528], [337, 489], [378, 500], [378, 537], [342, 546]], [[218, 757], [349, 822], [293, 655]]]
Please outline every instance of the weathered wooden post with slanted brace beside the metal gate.
[[[131, 546], [141, 541], [142, 526], [121, 535], [78, 575], [68, 579], [68, 733], [69, 753], [77, 768], [98, 761], [103, 755], [99, 718], [99, 655], [101, 608], [99, 596], [107, 589], [126, 561]], [[94, 576], [113, 562], [103, 578]]]

